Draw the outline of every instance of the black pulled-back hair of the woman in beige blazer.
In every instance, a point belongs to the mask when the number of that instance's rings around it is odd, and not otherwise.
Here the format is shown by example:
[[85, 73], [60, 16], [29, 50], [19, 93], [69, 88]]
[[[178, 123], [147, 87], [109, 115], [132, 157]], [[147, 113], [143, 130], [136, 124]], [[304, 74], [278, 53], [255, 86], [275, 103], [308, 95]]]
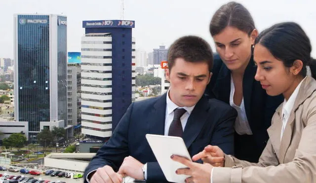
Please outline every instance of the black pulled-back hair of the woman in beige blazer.
[[306, 76], [309, 66], [316, 79], [316, 60], [311, 57], [312, 45], [304, 30], [295, 22], [276, 24], [264, 30], [255, 40], [266, 47], [285, 67], [292, 67], [295, 60], [303, 62], [300, 75]]

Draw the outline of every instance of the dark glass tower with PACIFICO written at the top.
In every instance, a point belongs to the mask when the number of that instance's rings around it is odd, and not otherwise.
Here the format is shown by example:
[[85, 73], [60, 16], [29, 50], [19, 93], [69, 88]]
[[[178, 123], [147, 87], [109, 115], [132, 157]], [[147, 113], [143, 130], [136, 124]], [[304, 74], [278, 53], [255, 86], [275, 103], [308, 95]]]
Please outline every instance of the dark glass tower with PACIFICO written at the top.
[[67, 17], [14, 15], [16, 121], [28, 121], [29, 140], [43, 128], [67, 129]]

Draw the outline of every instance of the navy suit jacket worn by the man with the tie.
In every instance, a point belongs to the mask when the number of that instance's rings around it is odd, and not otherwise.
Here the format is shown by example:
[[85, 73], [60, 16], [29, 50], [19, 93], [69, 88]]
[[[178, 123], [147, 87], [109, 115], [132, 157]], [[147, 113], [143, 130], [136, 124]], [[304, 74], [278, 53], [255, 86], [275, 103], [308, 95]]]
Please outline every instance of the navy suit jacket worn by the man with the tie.
[[[166, 94], [132, 103], [118, 123], [112, 137], [92, 158], [87, 174], [105, 165], [118, 171], [124, 157], [147, 163], [147, 182], [167, 182], [145, 135], [164, 135]], [[202, 97], [188, 118], [183, 140], [191, 156], [209, 144], [234, 153], [234, 122], [237, 111], [216, 99]], [[168, 158], [168, 157], [166, 157]]]

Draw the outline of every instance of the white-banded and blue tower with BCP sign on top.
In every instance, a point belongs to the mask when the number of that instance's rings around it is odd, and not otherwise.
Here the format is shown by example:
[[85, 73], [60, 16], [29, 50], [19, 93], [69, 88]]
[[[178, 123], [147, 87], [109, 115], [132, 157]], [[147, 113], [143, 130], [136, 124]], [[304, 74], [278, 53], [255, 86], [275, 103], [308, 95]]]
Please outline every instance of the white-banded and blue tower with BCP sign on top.
[[81, 38], [81, 132], [111, 137], [135, 100], [134, 21], [83, 21]]

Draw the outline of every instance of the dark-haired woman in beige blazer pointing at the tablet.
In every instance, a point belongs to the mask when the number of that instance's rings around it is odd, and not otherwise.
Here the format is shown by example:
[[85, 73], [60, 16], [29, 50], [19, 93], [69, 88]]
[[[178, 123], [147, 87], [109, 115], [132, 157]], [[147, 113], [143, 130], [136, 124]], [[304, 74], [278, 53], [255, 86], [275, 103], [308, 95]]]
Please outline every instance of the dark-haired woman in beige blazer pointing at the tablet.
[[[258, 163], [207, 146], [193, 157], [204, 164], [172, 155], [189, 167], [176, 173], [190, 175], [186, 183], [316, 183], [316, 60], [311, 50], [309, 38], [293, 22], [266, 29], [255, 41], [255, 79], [268, 95], [284, 96]], [[307, 76], [306, 66], [312, 77]]]

